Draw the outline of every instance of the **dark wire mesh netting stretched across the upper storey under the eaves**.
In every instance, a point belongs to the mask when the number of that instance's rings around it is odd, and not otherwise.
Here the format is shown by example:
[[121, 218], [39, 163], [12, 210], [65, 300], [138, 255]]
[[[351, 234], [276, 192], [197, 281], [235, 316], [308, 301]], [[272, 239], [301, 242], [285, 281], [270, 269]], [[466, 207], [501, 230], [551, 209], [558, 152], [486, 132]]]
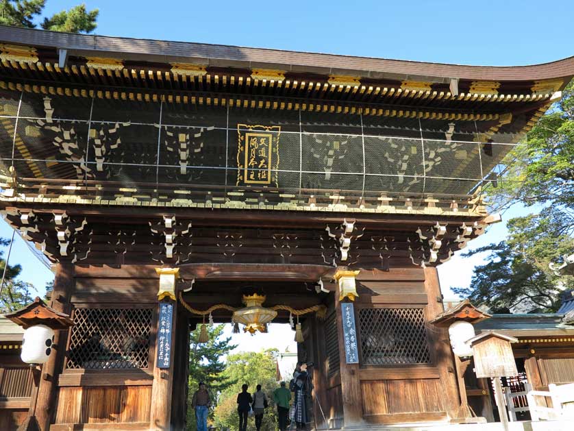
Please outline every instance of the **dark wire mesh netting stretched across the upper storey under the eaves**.
[[[124, 188], [171, 184], [327, 195], [332, 190], [470, 195], [491, 180], [489, 174], [516, 138], [491, 133], [488, 142], [481, 142], [496, 120], [196, 106], [9, 90], [0, 93], [0, 103], [0, 159], [4, 167], [14, 166], [18, 177]], [[261, 140], [265, 134], [269, 151], [250, 146], [253, 137]]]

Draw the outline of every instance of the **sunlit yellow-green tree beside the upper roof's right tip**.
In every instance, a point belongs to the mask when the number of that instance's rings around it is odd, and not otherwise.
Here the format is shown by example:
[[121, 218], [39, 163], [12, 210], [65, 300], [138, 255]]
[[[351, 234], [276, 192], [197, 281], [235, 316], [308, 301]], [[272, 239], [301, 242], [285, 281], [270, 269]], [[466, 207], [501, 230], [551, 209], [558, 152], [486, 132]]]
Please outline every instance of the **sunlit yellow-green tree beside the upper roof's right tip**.
[[573, 234], [574, 80], [502, 164], [506, 171], [498, 186], [486, 189], [494, 210], [516, 202], [547, 204], [564, 212], [559, 232]]

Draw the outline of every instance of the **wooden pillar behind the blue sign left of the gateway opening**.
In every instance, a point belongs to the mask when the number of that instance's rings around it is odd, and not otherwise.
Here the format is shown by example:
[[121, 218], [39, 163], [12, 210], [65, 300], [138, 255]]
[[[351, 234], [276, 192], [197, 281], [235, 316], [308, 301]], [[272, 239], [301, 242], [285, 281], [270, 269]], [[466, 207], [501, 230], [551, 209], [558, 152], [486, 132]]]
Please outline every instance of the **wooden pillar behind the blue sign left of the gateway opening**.
[[[158, 304], [158, 317], [159, 317]], [[176, 347], [175, 331], [177, 330], [177, 301], [173, 301], [173, 315], [171, 327], [171, 360], [169, 368], [158, 367], [158, 328], [159, 318], [155, 328], [155, 349], [153, 354], [153, 385], [151, 386], [151, 411], [149, 414], [149, 428], [151, 430], [171, 430], [171, 396], [173, 391], [173, 374], [175, 355], [179, 354]]]

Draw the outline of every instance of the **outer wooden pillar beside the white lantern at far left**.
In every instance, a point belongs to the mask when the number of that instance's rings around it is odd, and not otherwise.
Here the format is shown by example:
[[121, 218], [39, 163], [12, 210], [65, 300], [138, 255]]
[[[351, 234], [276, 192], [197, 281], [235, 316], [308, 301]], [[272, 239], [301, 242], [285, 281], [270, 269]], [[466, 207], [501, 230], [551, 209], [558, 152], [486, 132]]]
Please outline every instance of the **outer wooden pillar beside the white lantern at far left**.
[[[70, 297], [74, 287], [74, 265], [70, 262], [60, 262], [55, 267], [54, 288], [49, 306], [56, 311], [69, 314], [71, 312]], [[55, 331], [53, 342], [55, 352], [50, 355], [48, 362], [42, 367], [35, 413], [38, 427], [42, 431], [49, 429], [56, 410], [55, 398], [58, 395], [58, 376], [64, 367], [67, 341], [68, 331]], [[32, 401], [30, 408], [33, 407], [34, 402]]]

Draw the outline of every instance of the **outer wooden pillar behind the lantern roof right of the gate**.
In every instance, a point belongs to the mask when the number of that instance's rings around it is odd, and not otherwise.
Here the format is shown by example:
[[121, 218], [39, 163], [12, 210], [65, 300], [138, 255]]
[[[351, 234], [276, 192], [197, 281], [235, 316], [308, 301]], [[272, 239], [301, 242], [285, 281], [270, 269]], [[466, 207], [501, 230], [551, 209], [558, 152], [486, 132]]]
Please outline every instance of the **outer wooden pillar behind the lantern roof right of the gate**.
[[[438, 272], [436, 268], [425, 268], [425, 291], [427, 292], [428, 305], [427, 305], [427, 321], [433, 319], [436, 315], [444, 311], [442, 306], [442, 294], [440, 292], [440, 283], [438, 281]], [[439, 299], [441, 299], [439, 301]], [[440, 382], [442, 389], [444, 389], [444, 402], [445, 408], [449, 417], [454, 418], [458, 416], [458, 408], [460, 407], [461, 398], [466, 398], [466, 388], [464, 383], [459, 387], [455, 375], [455, 363], [453, 362], [453, 353], [449, 342], [449, 334], [446, 329], [436, 328], [429, 334], [431, 341], [430, 347], [434, 354], [436, 367], [440, 373]], [[460, 391], [460, 392], [459, 392]], [[464, 396], [462, 396], [464, 391]]]

